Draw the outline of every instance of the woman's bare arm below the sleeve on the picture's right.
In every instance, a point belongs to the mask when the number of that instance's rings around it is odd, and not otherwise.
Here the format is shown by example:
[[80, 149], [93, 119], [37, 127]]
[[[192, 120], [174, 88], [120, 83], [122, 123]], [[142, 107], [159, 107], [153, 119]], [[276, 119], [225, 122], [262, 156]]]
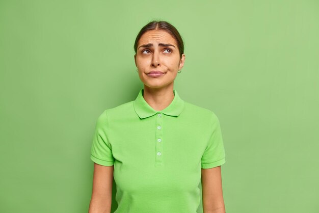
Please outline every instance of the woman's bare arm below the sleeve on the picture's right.
[[202, 169], [201, 181], [204, 213], [225, 213], [221, 166]]

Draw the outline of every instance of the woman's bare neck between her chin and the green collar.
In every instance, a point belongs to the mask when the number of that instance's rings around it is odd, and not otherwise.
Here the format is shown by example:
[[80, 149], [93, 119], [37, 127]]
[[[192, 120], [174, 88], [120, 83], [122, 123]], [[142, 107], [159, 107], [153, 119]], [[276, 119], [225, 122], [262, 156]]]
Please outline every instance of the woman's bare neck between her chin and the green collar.
[[173, 84], [165, 88], [150, 88], [144, 85], [143, 97], [154, 110], [164, 110], [174, 99]]

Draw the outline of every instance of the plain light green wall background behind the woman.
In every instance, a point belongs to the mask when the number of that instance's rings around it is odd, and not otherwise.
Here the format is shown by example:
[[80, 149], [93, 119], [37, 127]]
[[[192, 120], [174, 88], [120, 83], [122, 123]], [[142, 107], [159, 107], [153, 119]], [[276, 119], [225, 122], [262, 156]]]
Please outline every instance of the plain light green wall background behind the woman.
[[95, 122], [143, 87], [133, 44], [154, 18], [185, 42], [178, 94], [220, 119], [226, 212], [319, 212], [310, 0], [0, 1], [0, 212], [88, 211]]

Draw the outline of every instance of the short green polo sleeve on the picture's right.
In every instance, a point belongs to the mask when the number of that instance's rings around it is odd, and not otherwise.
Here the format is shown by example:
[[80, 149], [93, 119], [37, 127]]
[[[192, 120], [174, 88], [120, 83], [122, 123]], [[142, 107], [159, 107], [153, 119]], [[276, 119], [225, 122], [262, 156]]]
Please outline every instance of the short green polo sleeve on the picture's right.
[[226, 162], [220, 123], [214, 113], [212, 113], [211, 117], [211, 131], [208, 145], [201, 159], [202, 169], [218, 167]]

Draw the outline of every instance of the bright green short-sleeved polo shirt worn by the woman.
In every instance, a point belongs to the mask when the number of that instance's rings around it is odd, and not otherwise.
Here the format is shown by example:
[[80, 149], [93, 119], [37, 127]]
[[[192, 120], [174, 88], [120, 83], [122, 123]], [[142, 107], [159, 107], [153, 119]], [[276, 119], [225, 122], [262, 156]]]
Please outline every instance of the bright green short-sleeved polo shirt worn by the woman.
[[98, 117], [91, 159], [114, 165], [115, 213], [196, 213], [201, 169], [225, 163], [219, 120], [176, 90], [156, 111], [143, 92]]

